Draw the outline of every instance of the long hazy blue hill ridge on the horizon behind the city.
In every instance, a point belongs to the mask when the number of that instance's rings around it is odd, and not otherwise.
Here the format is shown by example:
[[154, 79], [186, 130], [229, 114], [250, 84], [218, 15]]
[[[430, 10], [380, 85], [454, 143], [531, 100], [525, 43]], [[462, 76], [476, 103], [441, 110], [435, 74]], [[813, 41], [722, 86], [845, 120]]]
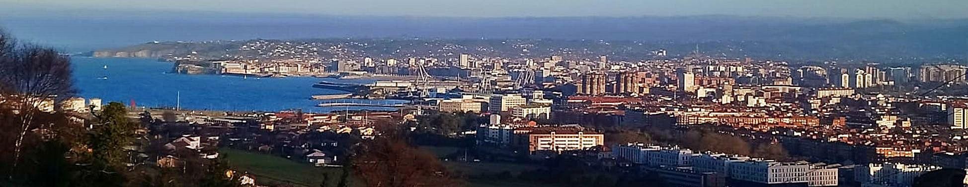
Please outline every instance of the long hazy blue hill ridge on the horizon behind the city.
[[[213, 20], [222, 20], [212, 18]], [[280, 21], [280, 23], [274, 23]], [[446, 52], [481, 55], [545, 56], [562, 53], [560, 48], [583, 50], [589, 55], [610, 55], [616, 60], [638, 60], [657, 48], [670, 54], [685, 55], [696, 45], [711, 56], [769, 58], [777, 60], [856, 60], [879, 62], [940, 61], [968, 57], [968, 20], [895, 21], [889, 19], [838, 20], [790, 17], [743, 16], [674, 16], [674, 17], [393, 17], [393, 16], [324, 16], [290, 17], [283, 20], [257, 19], [249, 23], [211, 22], [213, 27], [195, 23], [197, 35], [226, 35], [238, 38], [245, 31], [265, 33], [260, 36], [293, 42], [319, 41], [327, 44], [360, 41], [370, 46], [344, 45], [360, 52], [357, 56], [404, 57], [426, 56], [425, 49], [412, 47], [425, 41], [460, 45], [465, 48], [443, 49]], [[283, 22], [299, 23], [273, 26]], [[157, 24], [165, 25], [165, 21]], [[183, 23], [179, 23], [183, 24]], [[263, 25], [264, 24], [264, 25]], [[244, 27], [249, 30], [233, 31]], [[253, 27], [253, 28], [250, 28]], [[269, 29], [269, 30], [272, 30]], [[205, 33], [205, 32], [208, 33]], [[188, 30], [185, 32], [193, 32]], [[345, 37], [338, 37], [345, 36]], [[421, 40], [414, 40], [420, 38]], [[193, 38], [197, 39], [197, 38]], [[250, 38], [253, 39], [253, 38]], [[510, 40], [509, 40], [510, 39]], [[523, 39], [523, 40], [513, 40]], [[538, 40], [540, 39], [540, 40]], [[186, 39], [191, 40], [191, 39]], [[605, 46], [604, 40], [610, 46]], [[134, 46], [95, 51], [98, 57], [160, 58], [168, 54], [219, 58], [239, 55], [242, 44], [254, 40], [219, 40], [208, 42], [148, 42]], [[508, 47], [529, 43], [527, 52]], [[437, 47], [437, 48], [435, 48]], [[493, 48], [482, 52], [477, 47]], [[389, 50], [401, 48], [401, 51]], [[553, 50], [543, 50], [543, 49]], [[538, 49], [538, 50], [534, 50]], [[558, 50], [558, 51], [556, 51]], [[443, 52], [443, 51], [441, 51]], [[483, 53], [483, 54], [482, 54]], [[319, 55], [330, 55], [322, 53]], [[592, 56], [593, 57], [593, 56]]]

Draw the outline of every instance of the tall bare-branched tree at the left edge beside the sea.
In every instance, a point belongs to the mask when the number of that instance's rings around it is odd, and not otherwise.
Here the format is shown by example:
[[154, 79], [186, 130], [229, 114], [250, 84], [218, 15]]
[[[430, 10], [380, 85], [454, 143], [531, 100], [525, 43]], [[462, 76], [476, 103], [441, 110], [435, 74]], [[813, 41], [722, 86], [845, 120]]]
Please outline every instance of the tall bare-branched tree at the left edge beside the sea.
[[[19, 117], [14, 144], [16, 170], [23, 137], [37, 126], [34, 117], [41, 107], [61, 103], [73, 96], [71, 60], [57, 51], [37, 45], [17, 46], [10, 35], [0, 32], [0, 96]], [[12, 173], [13, 174], [13, 173]], [[12, 176], [12, 175], [11, 175]]]

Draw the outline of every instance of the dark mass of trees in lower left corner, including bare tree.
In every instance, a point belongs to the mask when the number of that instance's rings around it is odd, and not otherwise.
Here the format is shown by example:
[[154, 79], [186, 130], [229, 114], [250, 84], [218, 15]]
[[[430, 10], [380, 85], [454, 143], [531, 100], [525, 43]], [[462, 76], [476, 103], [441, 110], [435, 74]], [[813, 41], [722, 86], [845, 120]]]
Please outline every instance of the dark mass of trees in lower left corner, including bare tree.
[[[143, 164], [136, 120], [111, 102], [90, 114], [53, 110], [74, 96], [70, 59], [0, 32], [0, 186], [237, 186], [218, 160]], [[197, 156], [194, 156], [197, 157]]]

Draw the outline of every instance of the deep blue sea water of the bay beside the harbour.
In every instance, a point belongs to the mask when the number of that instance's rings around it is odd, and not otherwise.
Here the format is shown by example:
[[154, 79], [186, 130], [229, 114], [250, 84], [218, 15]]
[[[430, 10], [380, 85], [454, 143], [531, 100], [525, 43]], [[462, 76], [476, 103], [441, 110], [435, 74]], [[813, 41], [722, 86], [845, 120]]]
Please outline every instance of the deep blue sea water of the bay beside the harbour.
[[[313, 84], [319, 81], [368, 83], [373, 82], [372, 80], [177, 74], [170, 72], [171, 63], [159, 62], [155, 59], [73, 57], [72, 65], [78, 95], [85, 98], [102, 98], [105, 104], [117, 101], [128, 105], [134, 100], [138, 107], [175, 107], [179, 103], [180, 93], [181, 108], [192, 110], [302, 109], [308, 112], [346, 109], [393, 110], [384, 107], [317, 107], [316, 105], [321, 101], [309, 99], [313, 94], [345, 93], [313, 88]], [[341, 100], [402, 102], [401, 100]]]

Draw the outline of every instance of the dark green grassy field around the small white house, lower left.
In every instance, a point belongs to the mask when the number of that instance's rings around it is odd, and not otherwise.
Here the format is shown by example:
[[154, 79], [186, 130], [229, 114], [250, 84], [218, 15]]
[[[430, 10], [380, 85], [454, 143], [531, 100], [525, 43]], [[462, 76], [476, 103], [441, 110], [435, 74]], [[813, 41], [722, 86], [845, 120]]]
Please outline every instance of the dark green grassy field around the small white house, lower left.
[[299, 163], [283, 157], [249, 152], [245, 150], [221, 148], [220, 154], [234, 170], [256, 175], [256, 182], [265, 185], [293, 184], [296, 186], [319, 186], [322, 175], [328, 174], [330, 181], [339, 180], [339, 168], [317, 168], [308, 163]]

